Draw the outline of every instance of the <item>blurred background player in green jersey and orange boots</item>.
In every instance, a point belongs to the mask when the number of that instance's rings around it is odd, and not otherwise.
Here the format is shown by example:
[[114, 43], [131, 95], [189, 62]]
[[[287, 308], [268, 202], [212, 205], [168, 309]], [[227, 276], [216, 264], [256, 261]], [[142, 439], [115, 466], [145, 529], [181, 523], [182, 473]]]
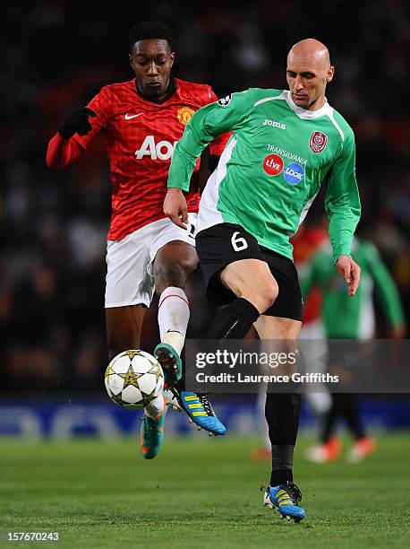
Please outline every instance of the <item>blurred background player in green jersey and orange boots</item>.
[[[348, 298], [346, 289], [330, 266], [329, 240], [317, 250], [310, 267], [304, 277], [301, 277], [301, 289], [305, 298], [308, 298], [314, 288], [320, 289], [320, 317], [326, 338], [372, 339], [375, 332], [374, 294], [388, 320], [390, 337], [401, 339], [406, 332], [403, 307], [396, 284], [383, 264], [377, 248], [368, 240], [354, 238], [352, 255], [362, 267], [361, 284], [353, 300]], [[332, 358], [332, 364], [333, 360], [336, 361], [337, 358]], [[347, 454], [347, 459], [357, 462], [372, 454], [376, 441], [366, 436], [357, 396], [353, 393], [331, 395], [329, 410], [321, 414], [320, 444], [307, 450], [310, 461], [325, 463], [339, 457], [341, 443], [332, 436], [339, 419], [346, 420], [348, 429], [354, 436], [354, 445]]]

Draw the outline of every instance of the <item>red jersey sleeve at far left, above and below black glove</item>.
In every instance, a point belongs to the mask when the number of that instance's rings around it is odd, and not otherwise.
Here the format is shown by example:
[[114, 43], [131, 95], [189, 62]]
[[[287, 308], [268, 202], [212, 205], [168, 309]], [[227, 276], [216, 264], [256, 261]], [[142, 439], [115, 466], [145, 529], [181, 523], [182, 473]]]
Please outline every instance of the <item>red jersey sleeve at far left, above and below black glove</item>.
[[107, 128], [109, 110], [111, 107], [110, 92], [107, 87], [96, 95], [87, 107], [96, 113], [96, 117], [90, 117], [91, 130], [87, 135], [74, 134], [70, 139], [63, 139], [56, 133], [47, 147], [47, 165], [49, 168], [65, 168], [77, 158], [90, 144], [90, 141], [100, 131]]

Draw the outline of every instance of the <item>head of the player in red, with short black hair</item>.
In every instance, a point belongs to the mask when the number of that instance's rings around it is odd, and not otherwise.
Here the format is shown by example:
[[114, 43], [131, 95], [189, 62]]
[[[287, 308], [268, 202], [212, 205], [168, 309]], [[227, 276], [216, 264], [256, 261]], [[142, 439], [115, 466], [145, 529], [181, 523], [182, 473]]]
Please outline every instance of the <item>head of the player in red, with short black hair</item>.
[[130, 63], [140, 92], [156, 98], [167, 92], [175, 53], [171, 31], [158, 22], [141, 22], [130, 33]]

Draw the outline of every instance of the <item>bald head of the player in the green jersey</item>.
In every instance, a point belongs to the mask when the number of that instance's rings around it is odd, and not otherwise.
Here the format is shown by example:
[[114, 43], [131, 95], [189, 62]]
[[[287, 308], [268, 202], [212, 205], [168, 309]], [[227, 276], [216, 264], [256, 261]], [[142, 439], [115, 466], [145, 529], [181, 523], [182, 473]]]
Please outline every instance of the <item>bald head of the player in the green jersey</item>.
[[320, 108], [333, 74], [335, 67], [330, 65], [329, 50], [318, 40], [301, 40], [287, 54], [286, 80], [298, 107]]

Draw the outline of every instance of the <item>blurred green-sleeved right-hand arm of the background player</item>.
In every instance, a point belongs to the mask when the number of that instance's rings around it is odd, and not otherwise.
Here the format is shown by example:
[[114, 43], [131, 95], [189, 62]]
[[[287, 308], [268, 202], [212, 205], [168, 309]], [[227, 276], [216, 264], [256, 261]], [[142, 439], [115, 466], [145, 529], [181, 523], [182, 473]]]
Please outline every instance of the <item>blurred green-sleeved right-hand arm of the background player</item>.
[[374, 281], [374, 291], [389, 322], [393, 337], [402, 337], [406, 329], [403, 306], [397, 285], [371, 242], [363, 242], [369, 272]]

